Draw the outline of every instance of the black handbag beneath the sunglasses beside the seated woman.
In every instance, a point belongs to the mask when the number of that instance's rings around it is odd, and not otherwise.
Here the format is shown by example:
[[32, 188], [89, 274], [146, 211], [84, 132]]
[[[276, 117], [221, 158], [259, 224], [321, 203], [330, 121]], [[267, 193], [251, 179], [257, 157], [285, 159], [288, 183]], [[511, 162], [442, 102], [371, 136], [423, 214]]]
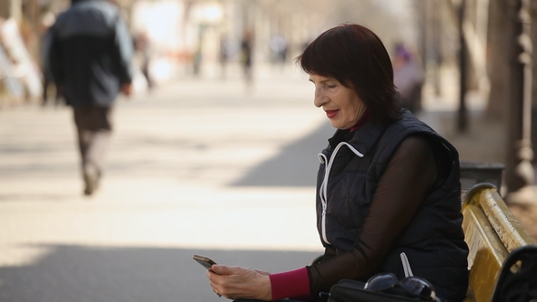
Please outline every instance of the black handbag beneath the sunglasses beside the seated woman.
[[365, 283], [343, 279], [330, 288], [328, 302], [401, 302], [423, 301], [419, 297], [405, 297], [364, 289]]

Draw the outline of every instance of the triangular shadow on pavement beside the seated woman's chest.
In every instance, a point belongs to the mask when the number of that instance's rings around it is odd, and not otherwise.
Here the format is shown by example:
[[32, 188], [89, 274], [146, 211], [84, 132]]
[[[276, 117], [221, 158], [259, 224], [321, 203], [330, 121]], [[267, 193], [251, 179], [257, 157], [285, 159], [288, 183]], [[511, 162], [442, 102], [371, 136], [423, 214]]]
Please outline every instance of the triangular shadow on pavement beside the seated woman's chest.
[[308, 136], [284, 146], [278, 156], [252, 168], [230, 186], [315, 186], [319, 152], [335, 132], [329, 122]]

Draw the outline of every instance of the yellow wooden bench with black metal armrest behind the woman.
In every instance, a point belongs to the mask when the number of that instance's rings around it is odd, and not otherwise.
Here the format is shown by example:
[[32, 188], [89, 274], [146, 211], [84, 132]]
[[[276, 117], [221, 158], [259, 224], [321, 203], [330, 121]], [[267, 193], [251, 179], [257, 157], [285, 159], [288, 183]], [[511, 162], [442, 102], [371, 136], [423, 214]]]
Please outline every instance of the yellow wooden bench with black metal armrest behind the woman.
[[465, 301], [503, 301], [505, 280], [522, 273], [526, 275], [520, 282], [530, 282], [523, 287], [537, 291], [537, 281], [531, 277], [537, 277], [537, 246], [505, 205], [497, 187], [491, 183], [473, 186], [464, 196], [462, 214], [470, 247], [470, 284]]

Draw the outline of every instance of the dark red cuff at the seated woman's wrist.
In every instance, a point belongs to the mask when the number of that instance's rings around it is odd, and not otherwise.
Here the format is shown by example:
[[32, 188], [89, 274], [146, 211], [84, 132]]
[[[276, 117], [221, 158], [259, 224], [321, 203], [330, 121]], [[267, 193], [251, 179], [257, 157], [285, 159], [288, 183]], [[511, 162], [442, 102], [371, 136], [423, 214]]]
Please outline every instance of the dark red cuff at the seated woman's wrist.
[[270, 274], [269, 278], [273, 300], [285, 297], [309, 296], [309, 276], [308, 268], [306, 267], [289, 270], [289, 272]]

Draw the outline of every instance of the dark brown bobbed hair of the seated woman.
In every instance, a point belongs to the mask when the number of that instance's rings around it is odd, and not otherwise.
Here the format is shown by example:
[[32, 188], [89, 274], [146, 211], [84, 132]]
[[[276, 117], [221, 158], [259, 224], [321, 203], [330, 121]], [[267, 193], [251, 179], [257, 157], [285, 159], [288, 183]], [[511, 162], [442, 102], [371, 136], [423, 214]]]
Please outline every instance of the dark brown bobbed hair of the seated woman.
[[399, 116], [390, 55], [370, 29], [355, 24], [333, 27], [311, 42], [296, 62], [309, 75], [333, 77], [354, 88], [377, 122], [387, 124]]

